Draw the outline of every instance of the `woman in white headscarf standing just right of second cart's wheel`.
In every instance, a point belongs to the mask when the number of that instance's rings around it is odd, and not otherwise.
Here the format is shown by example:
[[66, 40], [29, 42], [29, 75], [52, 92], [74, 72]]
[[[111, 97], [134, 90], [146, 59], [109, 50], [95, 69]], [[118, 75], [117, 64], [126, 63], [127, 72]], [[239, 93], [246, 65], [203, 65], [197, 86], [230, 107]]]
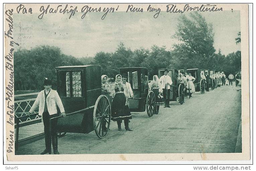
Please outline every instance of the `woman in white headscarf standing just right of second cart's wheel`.
[[153, 80], [149, 83], [149, 90], [152, 90], [155, 94], [156, 109], [154, 111], [154, 114], [158, 114], [160, 104], [164, 103], [164, 102], [163, 102], [163, 100], [161, 100], [163, 98], [163, 96], [161, 95], [163, 90], [160, 88], [160, 82], [159, 82], [159, 78], [157, 75], [154, 75]]

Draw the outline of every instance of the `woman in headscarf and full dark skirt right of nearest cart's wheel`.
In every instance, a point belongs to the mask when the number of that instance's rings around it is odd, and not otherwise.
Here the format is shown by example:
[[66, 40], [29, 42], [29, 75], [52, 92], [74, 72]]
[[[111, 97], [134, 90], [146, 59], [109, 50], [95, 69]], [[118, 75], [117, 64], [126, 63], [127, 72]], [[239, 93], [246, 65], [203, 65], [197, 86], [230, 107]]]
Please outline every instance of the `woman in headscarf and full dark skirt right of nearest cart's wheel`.
[[132, 131], [129, 128], [129, 119], [132, 119], [132, 115], [126, 103], [124, 89], [125, 87], [122, 84], [122, 76], [117, 74], [113, 85], [115, 96], [111, 105], [111, 120], [117, 121], [118, 131], [121, 131], [121, 120], [124, 120], [125, 130]]

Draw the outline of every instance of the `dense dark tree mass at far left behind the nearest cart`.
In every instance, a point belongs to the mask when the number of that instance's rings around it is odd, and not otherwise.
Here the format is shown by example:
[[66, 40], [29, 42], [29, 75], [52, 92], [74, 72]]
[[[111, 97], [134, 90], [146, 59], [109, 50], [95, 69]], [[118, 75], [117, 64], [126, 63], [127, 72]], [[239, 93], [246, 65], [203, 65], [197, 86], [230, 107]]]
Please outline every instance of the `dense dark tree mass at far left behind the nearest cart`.
[[73, 56], [63, 54], [55, 46], [20, 49], [14, 52], [15, 90], [41, 90], [45, 77], [52, 79], [53, 88], [56, 88], [55, 68], [67, 65], [82, 63]]

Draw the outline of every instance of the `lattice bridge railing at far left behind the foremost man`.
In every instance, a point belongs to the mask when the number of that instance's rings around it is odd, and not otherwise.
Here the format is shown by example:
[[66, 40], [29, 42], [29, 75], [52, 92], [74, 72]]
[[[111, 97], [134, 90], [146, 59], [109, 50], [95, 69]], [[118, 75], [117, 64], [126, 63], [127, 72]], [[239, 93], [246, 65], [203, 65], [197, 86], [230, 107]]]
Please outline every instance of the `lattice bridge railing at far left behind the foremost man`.
[[[37, 93], [27, 93], [27, 94], [18, 94], [14, 95], [14, 98], [17, 97], [26, 97], [37, 95]], [[14, 117], [15, 117], [15, 126], [16, 129], [16, 139], [15, 139], [15, 148], [18, 148], [19, 144], [19, 128], [27, 125], [32, 125], [35, 123], [41, 122], [41, 117], [38, 115], [38, 111], [32, 113], [28, 116], [28, 112], [31, 109], [36, 98], [24, 99], [24, 100], [16, 100], [14, 101]]]

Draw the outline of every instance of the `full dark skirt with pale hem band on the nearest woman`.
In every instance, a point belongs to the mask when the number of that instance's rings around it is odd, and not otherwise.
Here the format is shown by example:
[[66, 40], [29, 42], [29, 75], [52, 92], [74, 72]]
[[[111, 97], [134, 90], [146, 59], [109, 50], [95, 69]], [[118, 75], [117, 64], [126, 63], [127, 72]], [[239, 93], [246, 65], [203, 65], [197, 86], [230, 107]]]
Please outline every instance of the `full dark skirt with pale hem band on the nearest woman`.
[[115, 94], [111, 104], [111, 120], [132, 119], [129, 106], [125, 106], [126, 98], [123, 93]]

